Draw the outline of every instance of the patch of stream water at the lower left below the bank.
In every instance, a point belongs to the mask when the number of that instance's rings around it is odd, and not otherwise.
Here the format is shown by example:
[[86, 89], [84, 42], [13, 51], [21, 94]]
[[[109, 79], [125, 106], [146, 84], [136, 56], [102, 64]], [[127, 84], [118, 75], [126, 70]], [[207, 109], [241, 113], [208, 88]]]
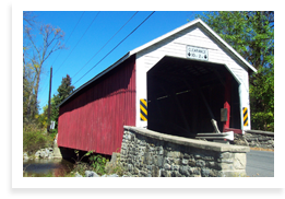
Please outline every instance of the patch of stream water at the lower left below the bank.
[[63, 176], [73, 168], [73, 163], [63, 159], [24, 160], [23, 171], [27, 176]]

